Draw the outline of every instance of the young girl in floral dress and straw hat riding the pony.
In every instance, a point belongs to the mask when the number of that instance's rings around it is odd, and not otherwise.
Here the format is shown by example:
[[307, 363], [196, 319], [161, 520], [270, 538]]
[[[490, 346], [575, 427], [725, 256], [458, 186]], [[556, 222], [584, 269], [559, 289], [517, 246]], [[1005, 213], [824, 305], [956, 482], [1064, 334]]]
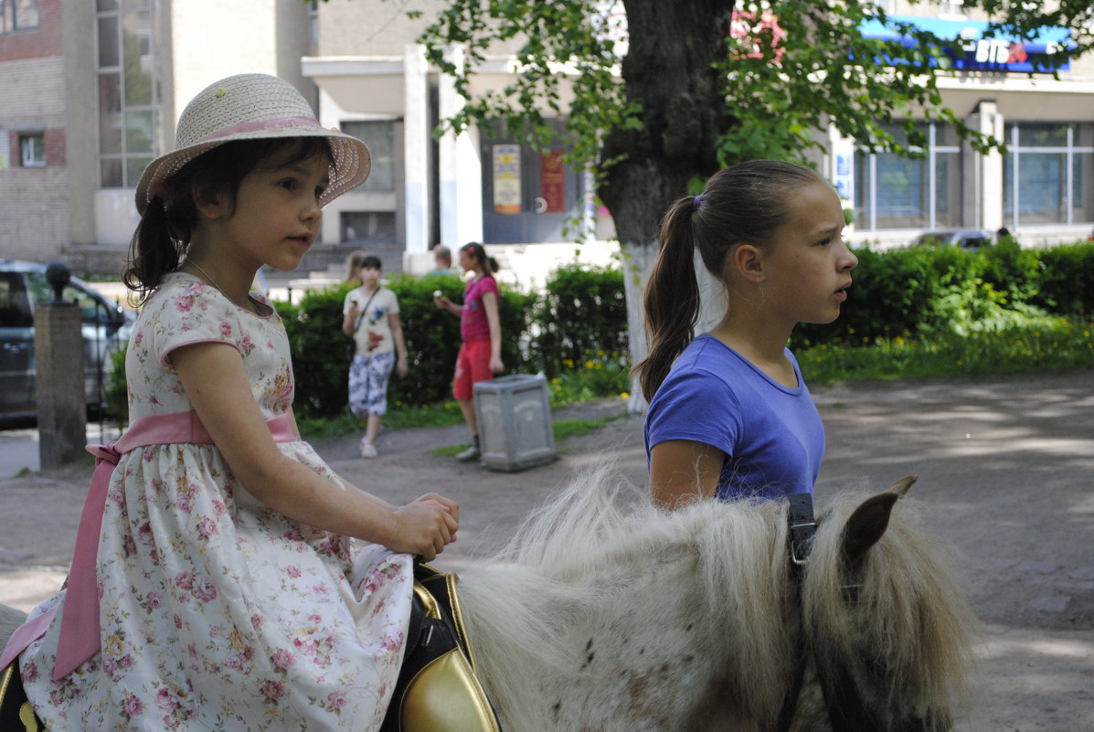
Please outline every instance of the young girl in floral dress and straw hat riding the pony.
[[369, 162], [290, 84], [244, 74], [199, 93], [146, 170], [130, 428], [98, 451], [67, 588], [2, 660], [51, 732], [379, 729], [411, 555], [455, 538], [458, 507], [389, 506], [300, 440], [284, 328], [249, 292], [299, 265]]

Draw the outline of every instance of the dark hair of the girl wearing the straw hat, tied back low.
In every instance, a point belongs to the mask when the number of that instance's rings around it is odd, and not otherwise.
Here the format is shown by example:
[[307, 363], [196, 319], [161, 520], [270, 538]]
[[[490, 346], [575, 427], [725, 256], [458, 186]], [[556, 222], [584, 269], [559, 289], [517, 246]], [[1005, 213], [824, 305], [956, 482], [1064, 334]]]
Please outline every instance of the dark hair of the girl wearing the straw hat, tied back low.
[[228, 196], [234, 209], [243, 178], [275, 155], [284, 155], [278, 160], [281, 165], [315, 156], [334, 165], [330, 144], [322, 137], [233, 140], [201, 153], [164, 181], [166, 196], [153, 197], [144, 209], [121, 275], [126, 287], [144, 298], [164, 275], [178, 269], [198, 222], [195, 191]]

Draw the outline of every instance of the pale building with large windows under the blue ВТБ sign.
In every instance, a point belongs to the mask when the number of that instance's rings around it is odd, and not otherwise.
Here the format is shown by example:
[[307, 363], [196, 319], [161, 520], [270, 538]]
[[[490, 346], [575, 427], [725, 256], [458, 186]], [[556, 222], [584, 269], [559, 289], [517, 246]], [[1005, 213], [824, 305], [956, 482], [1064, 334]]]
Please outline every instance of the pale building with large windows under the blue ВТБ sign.
[[[1006, 143], [980, 154], [950, 125], [920, 121], [924, 158], [871, 153], [830, 132], [826, 174], [850, 208], [852, 240], [907, 244], [924, 230], [1008, 229], [1028, 245], [1085, 239], [1094, 229], [1094, 59], [1069, 59], [1059, 79], [1045, 55], [1067, 48], [1067, 28], [1037, 38], [985, 37], [987, 22], [959, 0], [883, 0], [895, 18], [961, 40], [954, 73], [940, 79], [943, 102], [969, 127]], [[874, 37], [898, 37], [872, 23]], [[909, 38], [906, 44], [911, 43]], [[916, 118], [915, 111], [910, 116]], [[921, 119], [921, 117], [920, 117]]]

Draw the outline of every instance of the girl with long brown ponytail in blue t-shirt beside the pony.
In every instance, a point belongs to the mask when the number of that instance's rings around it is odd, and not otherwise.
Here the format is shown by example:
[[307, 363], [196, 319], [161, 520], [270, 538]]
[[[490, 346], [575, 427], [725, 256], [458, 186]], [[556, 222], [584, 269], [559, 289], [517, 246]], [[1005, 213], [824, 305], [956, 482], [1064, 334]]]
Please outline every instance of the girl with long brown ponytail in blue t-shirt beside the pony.
[[[649, 356], [637, 368], [656, 504], [813, 492], [824, 427], [787, 340], [798, 323], [839, 316], [858, 265], [843, 225], [824, 178], [769, 160], [722, 170], [672, 205], [645, 290]], [[698, 337], [696, 249], [728, 300]]]

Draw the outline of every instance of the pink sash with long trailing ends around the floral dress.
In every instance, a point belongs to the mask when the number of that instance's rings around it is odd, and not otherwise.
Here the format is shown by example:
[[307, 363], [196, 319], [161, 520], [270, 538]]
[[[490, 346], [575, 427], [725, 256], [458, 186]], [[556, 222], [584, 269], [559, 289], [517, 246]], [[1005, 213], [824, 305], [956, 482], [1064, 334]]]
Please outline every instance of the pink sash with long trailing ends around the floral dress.
[[[275, 442], [294, 442], [300, 439], [293, 430], [292, 415], [289, 413], [267, 420], [266, 423]], [[68, 590], [65, 593], [65, 613], [61, 616], [61, 634], [53, 673], [55, 681], [68, 676], [100, 649], [95, 563], [98, 559], [98, 534], [103, 527], [106, 492], [114, 466], [125, 453], [156, 444], [212, 444], [212, 438], [198, 419], [197, 413], [178, 411], [141, 417], [117, 441], [105, 445], [88, 445], [88, 452], [95, 456], [95, 472], [80, 515], [72, 568], [66, 583]], [[7, 669], [9, 663], [40, 638], [56, 614], [57, 605], [54, 605], [49, 611], [21, 625], [8, 639], [8, 646], [0, 655], [0, 669]]]

